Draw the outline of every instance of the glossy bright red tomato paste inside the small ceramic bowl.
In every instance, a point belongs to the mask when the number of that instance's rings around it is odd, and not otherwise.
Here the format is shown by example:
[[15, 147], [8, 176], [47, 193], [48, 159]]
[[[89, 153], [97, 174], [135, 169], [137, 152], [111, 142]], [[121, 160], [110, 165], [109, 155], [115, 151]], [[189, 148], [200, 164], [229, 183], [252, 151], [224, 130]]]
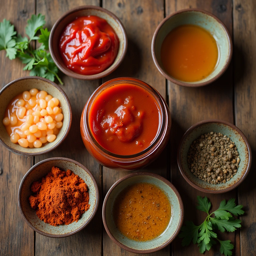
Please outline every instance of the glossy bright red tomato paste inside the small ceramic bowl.
[[98, 74], [112, 65], [119, 49], [113, 28], [97, 16], [78, 17], [60, 37], [59, 51], [65, 65], [83, 74]]

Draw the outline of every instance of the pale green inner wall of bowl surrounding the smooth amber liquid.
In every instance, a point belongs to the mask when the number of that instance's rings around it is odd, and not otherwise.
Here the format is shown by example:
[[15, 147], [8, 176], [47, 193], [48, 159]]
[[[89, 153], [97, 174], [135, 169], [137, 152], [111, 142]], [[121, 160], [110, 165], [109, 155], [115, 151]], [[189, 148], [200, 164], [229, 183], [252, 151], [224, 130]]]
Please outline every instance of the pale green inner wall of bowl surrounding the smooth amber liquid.
[[[170, 74], [168, 74], [168, 72], [164, 69], [161, 61], [161, 46], [162, 46], [163, 40], [171, 30], [185, 24], [197, 25], [206, 29], [215, 38], [218, 46], [219, 56], [218, 56], [218, 61], [215, 69], [206, 78], [199, 81], [195, 81], [195, 82], [184, 82], [171, 77]], [[155, 51], [156, 60], [154, 61], [158, 63], [159, 65], [158, 69], [160, 68], [159, 71], [162, 74], [164, 74], [165, 72], [172, 79], [184, 84], [188, 84], [189, 86], [193, 86], [193, 85], [198, 86], [199, 83], [202, 84], [215, 78], [225, 68], [227, 62], [229, 61], [229, 57], [231, 55], [231, 44], [230, 44], [229, 35], [226, 29], [223, 27], [223, 25], [219, 23], [219, 21], [215, 19], [213, 16], [197, 10], [187, 10], [180, 13], [178, 12], [177, 14], [167, 19], [159, 28], [159, 31], [155, 38], [155, 45], [152, 47], [154, 47], [154, 51]], [[156, 66], [158, 66], [157, 63], [155, 63]]]

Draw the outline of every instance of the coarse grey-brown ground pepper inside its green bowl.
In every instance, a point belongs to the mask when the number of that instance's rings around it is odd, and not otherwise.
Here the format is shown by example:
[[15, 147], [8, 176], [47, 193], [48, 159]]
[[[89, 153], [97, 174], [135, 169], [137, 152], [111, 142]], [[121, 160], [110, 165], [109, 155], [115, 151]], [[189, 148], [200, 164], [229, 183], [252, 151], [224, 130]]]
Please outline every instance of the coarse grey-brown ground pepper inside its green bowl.
[[210, 132], [190, 145], [188, 167], [196, 177], [211, 184], [226, 183], [237, 173], [240, 158], [229, 137]]

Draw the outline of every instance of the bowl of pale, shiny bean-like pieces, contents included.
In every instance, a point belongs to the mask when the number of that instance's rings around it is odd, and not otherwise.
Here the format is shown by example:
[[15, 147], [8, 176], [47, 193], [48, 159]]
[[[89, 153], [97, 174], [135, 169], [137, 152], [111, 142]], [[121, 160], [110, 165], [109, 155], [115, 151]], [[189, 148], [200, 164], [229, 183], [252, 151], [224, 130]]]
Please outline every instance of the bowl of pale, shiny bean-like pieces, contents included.
[[48, 153], [67, 137], [72, 112], [65, 92], [41, 77], [23, 77], [0, 91], [0, 142], [26, 156]]

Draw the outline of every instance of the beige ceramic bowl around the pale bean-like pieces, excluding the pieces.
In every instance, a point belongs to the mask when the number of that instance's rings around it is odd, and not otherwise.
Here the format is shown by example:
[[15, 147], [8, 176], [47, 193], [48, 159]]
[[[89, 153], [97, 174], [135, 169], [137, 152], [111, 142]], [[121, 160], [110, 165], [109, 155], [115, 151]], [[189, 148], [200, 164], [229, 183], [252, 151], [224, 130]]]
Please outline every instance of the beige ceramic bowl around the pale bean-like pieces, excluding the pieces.
[[[55, 141], [39, 148], [25, 148], [10, 141], [10, 136], [6, 132], [2, 120], [4, 118], [5, 109], [9, 102], [16, 95], [22, 93], [23, 91], [29, 91], [33, 88], [44, 90], [59, 100], [63, 114], [63, 125]], [[8, 83], [0, 91], [0, 102], [2, 104], [2, 107], [0, 108], [0, 142], [13, 153], [25, 156], [42, 155], [57, 148], [67, 137], [72, 121], [71, 106], [66, 93], [56, 83], [42, 77], [22, 77], [16, 79]]]

